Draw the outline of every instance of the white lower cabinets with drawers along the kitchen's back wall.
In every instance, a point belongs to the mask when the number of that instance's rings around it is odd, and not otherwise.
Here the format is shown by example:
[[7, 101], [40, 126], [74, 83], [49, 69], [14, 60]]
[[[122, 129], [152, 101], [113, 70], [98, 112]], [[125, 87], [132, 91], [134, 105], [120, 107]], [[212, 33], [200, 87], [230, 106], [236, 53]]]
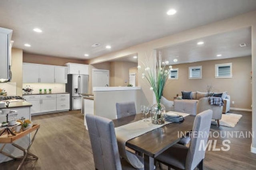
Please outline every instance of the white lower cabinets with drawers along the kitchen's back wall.
[[32, 115], [64, 111], [70, 108], [69, 94], [24, 95], [23, 98], [32, 104]]

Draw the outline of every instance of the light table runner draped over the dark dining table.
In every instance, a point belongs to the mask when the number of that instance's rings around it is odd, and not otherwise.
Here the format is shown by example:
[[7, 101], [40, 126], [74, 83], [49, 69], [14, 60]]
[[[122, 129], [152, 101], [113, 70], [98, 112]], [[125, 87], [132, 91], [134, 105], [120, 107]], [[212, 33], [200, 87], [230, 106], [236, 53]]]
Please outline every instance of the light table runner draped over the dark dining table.
[[[189, 114], [186, 113], [180, 113], [180, 112], [166, 112], [168, 113], [176, 113], [178, 115], [181, 115], [183, 117], [188, 116]], [[165, 122], [161, 125], [152, 124], [151, 120], [149, 122], [139, 120], [137, 122], [132, 122], [123, 126], [119, 126], [115, 128], [116, 131], [116, 139], [118, 143], [118, 149], [119, 154], [122, 158], [125, 158], [134, 168], [144, 168], [144, 164], [140, 162], [140, 160], [132, 154], [131, 152], [126, 150], [126, 141], [136, 138], [142, 134], [145, 134], [147, 132], [150, 132], [151, 130], [154, 130], [156, 128], [160, 128], [161, 126], [164, 126], [166, 124], [169, 124], [171, 122]]]

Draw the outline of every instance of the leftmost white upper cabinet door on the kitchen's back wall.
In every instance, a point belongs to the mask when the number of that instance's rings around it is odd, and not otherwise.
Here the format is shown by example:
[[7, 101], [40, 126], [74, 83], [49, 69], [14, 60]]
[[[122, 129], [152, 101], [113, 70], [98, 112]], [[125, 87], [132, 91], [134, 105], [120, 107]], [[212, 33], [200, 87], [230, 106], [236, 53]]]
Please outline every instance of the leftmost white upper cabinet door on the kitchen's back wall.
[[38, 83], [39, 64], [23, 63], [23, 83]]

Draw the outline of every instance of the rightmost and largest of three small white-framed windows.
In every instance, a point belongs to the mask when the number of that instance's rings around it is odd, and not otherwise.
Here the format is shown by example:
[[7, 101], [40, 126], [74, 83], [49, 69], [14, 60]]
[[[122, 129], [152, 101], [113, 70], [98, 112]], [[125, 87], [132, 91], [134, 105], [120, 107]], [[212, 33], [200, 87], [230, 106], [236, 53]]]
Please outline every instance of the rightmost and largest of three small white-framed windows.
[[232, 63], [215, 64], [215, 78], [232, 78]]

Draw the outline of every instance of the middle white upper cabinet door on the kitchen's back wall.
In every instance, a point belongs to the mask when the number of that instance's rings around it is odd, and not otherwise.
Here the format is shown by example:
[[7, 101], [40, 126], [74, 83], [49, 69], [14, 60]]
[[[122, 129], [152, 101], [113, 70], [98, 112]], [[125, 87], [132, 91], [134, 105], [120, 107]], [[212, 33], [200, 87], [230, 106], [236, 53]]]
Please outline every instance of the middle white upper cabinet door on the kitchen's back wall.
[[40, 83], [54, 83], [54, 66], [39, 65]]

